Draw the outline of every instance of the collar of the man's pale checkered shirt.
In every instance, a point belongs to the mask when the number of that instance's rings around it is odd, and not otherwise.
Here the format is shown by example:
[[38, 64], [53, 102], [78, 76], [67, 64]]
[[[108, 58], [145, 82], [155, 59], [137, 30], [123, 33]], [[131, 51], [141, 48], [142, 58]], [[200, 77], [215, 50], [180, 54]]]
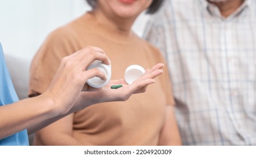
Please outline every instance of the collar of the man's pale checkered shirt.
[[[225, 19], [224, 17], [222, 17], [221, 12], [217, 6], [215, 6], [212, 3], [209, 3], [207, 0], [200, 0], [200, 1], [203, 4], [203, 7], [205, 8], [205, 10], [207, 10], [211, 15], [220, 17], [221, 19]], [[250, 3], [252, 3], [252, 0], [245, 0], [243, 4], [227, 18], [231, 19], [232, 17], [239, 16], [240, 13], [245, 10], [245, 8], [250, 6]]]

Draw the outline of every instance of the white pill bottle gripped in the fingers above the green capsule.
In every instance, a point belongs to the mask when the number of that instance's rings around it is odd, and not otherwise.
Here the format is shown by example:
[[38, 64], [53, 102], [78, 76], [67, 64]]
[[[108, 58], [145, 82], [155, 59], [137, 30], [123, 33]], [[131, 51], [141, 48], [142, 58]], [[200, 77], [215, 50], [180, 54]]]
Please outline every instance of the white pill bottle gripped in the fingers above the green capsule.
[[86, 70], [90, 70], [92, 68], [97, 68], [98, 70], [104, 72], [107, 80], [101, 80], [99, 77], [95, 76], [91, 79], [88, 79], [87, 84], [95, 88], [106, 86], [111, 79], [111, 65], [104, 64], [102, 61], [94, 61], [87, 67]]

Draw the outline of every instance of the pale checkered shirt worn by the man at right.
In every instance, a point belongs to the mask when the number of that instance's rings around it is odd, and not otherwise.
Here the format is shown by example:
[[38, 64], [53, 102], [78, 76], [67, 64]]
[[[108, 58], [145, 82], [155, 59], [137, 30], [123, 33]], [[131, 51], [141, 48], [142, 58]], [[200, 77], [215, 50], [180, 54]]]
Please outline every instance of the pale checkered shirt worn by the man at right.
[[184, 145], [256, 145], [256, 1], [227, 19], [206, 0], [168, 0], [144, 37], [167, 59]]

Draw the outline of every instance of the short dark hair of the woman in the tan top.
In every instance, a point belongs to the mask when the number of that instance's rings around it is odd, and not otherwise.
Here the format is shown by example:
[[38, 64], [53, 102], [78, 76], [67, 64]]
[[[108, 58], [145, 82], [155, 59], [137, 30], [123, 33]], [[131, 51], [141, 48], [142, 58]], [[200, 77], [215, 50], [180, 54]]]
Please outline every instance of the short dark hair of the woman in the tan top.
[[[86, 0], [86, 2], [94, 9], [97, 6], [98, 0]], [[161, 8], [164, 0], [153, 0], [150, 6], [147, 9], [147, 13], [153, 14]]]

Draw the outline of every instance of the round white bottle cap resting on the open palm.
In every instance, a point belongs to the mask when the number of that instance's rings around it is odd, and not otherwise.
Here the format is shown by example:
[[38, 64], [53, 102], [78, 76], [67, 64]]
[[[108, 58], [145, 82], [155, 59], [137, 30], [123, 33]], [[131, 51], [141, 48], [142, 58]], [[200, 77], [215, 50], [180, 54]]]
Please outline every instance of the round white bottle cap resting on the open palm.
[[130, 85], [140, 76], [142, 76], [144, 73], [145, 73], [145, 70], [143, 67], [135, 64], [131, 65], [127, 67], [125, 70], [125, 81], [127, 84]]

